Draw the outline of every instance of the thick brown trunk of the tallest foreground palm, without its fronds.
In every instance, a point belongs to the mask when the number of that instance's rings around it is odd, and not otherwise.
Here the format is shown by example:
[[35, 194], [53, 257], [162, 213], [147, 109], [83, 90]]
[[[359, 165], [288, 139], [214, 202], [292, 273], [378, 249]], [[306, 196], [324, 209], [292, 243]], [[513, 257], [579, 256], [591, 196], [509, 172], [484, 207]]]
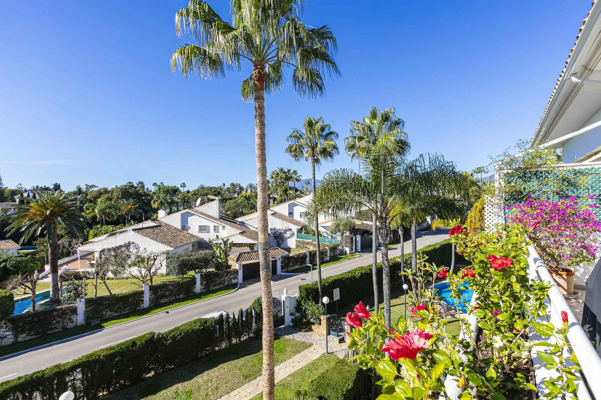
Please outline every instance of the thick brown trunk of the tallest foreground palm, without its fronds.
[[265, 155], [265, 68], [255, 65], [255, 159], [257, 161], [257, 230], [261, 275], [261, 303], [263, 309], [263, 400], [273, 400], [275, 374], [273, 372], [273, 294], [271, 291], [271, 263], [269, 262], [269, 225], [267, 223], [267, 165]]

